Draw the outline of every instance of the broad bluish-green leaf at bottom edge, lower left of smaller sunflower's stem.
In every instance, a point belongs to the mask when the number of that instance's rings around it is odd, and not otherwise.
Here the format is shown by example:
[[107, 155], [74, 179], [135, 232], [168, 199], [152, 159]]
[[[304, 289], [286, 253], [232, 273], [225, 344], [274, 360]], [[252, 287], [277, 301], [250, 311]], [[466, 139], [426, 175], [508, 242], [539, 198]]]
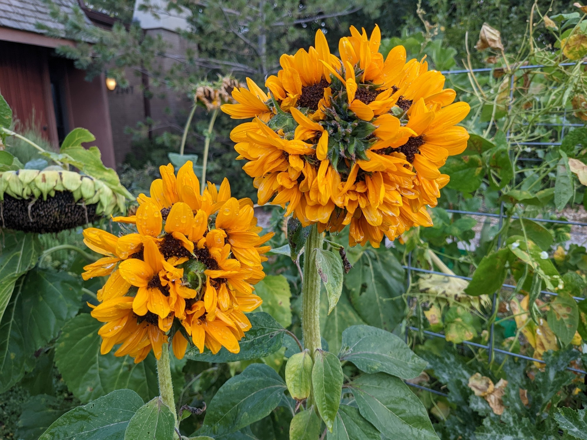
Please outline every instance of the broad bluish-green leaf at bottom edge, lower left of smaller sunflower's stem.
[[59, 417], [39, 440], [123, 440], [129, 420], [143, 406], [132, 390], [112, 391]]

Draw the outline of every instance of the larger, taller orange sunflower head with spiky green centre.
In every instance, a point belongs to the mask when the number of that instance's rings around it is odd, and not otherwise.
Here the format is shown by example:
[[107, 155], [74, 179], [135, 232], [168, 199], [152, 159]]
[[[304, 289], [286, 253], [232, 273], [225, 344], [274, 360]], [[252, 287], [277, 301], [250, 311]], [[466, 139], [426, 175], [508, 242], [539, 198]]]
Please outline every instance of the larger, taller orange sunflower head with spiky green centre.
[[426, 206], [450, 178], [439, 168], [468, 139], [456, 124], [469, 106], [453, 104], [444, 76], [426, 57], [406, 61], [403, 46], [383, 56], [380, 42], [377, 26], [370, 35], [351, 27], [336, 57], [318, 31], [314, 47], [283, 55], [268, 78], [269, 117], [254, 114], [231, 133], [259, 205], [281, 205], [319, 231], [349, 225], [350, 245], [429, 226]]

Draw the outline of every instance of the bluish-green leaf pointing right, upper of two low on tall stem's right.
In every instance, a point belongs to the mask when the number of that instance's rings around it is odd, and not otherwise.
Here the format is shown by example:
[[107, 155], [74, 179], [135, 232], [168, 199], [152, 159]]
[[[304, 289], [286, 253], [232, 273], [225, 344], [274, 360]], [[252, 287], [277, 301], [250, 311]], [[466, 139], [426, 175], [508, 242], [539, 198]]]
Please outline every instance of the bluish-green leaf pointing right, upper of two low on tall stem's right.
[[352, 326], [343, 331], [339, 356], [365, 373], [383, 371], [404, 379], [416, 377], [426, 367], [426, 361], [402, 339], [372, 326]]

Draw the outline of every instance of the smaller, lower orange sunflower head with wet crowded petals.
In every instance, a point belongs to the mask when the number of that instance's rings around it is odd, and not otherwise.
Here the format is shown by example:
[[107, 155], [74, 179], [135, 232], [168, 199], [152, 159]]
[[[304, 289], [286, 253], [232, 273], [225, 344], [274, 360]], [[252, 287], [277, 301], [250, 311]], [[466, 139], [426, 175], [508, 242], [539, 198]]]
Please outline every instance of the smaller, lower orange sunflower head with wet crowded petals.
[[[90, 249], [104, 255], [86, 266], [84, 279], [109, 275], [98, 292], [92, 316], [104, 322], [102, 352], [120, 344], [116, 356], [139, 362], [153, 350], [158, 358], [174, 320], [174, 354], [183, 357], [191, 340], [198, 350], [232, 353], [250, 328], [243, 312], [261, 304], [254, 285], [263, 279], [262, 262], [272, 233], [261, 229], [250, 199], [231, 197], [228, 180], [219, 188], [200, 182], [188, 161], [178, 170], [160, 168], [161, 179], [141, 194], [136, 215], [114, 218], [134, 225], [127, 235], [84, 231]], [[177, 328], [177, 327], [176, 327]]]

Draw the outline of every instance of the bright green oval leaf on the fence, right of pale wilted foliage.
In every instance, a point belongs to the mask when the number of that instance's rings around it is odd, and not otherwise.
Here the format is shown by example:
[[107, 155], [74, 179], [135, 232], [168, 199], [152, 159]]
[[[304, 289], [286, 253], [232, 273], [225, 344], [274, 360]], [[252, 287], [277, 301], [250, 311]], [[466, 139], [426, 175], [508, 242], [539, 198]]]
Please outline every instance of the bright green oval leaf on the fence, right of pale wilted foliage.
[[490, 295], [501, 289], [507, 275], [506, 263], [511, 258], [508, 249], [499, 249], [485, 255], [473, 272], [473, 279], [465, 289], [468, 295]]

